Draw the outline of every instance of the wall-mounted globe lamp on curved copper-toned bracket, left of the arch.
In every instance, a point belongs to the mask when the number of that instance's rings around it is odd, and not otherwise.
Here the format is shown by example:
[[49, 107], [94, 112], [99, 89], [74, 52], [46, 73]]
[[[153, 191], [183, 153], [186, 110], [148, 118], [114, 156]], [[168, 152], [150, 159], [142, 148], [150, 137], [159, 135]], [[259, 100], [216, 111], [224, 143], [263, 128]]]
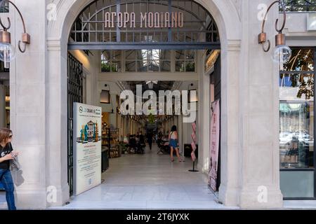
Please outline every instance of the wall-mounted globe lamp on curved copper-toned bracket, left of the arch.
[[[20, 18], [22, 20], [23, 25], [23, 33], [21, 41], [18, 42], [18, 48], [20, 52], [24, 53], [26, 50], [26, 45], [31, 43], [31, 36], [27, 34], [26, 28], [25, 28], [25, 22], [22, 17], [22, 14], [17, 6], [12, 1], [9, 0], [0, 0], [0, 8], [4, 7], [4, 3], [11, 3], [12, 6], [18, 11]], [[4, 25], [0, 18], [0, 25], [3, 28], [3, 30], [0, 31], [0, 60], [4, 62], [4, 68], [8, 69], [10, 66], [10, 62], [15, 59], [15, 47], [11, 44], [11, 33], [8, 31], [11, 27], [11, 20], [8, 18], [8, 27]], [[21, 43], [24, 43], [23, 48], [21, 47]]]

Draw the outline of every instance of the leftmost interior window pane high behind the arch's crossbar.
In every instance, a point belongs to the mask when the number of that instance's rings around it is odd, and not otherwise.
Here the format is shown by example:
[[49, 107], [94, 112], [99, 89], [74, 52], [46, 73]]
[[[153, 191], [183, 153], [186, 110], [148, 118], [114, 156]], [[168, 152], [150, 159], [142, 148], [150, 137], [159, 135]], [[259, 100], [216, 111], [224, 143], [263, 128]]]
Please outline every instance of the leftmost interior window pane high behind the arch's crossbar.
[[120, 50], [105, 50], [101, 54], [101, 72], [121, 72]]

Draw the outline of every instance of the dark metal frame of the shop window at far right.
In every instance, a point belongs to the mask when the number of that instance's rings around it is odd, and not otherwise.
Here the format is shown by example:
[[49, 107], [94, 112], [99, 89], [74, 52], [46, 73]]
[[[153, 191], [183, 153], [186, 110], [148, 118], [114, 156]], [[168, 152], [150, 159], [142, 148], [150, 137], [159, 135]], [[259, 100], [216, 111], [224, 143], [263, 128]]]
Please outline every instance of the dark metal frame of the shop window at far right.
[[[305, 73], [305, 74], [314, 74], [314, 80], [315, 80], [315, 75], [316, 75], [316, 70], [315, 70], [315, 60], [316, 60], [316, 46], [304, 46], [304, 47], [291, 47], [291, 49], [314, 49], [314, 60], [313, 60], [313, 64], [314, 64], [314, 71], [279, 71], [279, 75], [284, 74], [284, 73]], [[314, 85], [314, 92], [315, 92], [315, 85]], [[316, 110], [315, 110], [315, 104], [316, 104], [316, 97], [314, 96], [314, 118], [316, 115]], [[282, 101], [279, 101], [282, 102]], [[291, 102], [291, 101], [286, 101], [286, 102]], [[316, 137], [315, 134], [315, 127], [316, 127], [316, 119], [314, 119], [314, 139]], [[296, 168], [296, 169], [279, 169], [279, 172], [311, 172], [314, 171], [314, 197], [284, 197], [283, 200], [287, 200], [287, 201], [293, 201], [293, 200], [316, 200], [316, 155], [315, 155], [315, 151], [316, 151], [316, 146], [314, 143], [314, 168]]]

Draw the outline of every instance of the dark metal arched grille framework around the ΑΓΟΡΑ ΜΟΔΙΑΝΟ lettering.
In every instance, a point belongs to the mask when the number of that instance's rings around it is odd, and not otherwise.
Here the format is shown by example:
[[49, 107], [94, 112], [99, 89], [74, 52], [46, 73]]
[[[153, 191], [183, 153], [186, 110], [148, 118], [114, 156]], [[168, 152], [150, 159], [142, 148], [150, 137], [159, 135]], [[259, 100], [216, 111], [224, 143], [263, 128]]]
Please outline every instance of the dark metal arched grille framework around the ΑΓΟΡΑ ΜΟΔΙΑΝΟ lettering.
[[[209, 13], [208, 10], [206, 10], [206, 8], [204, 8], [200, 3], [195, 2], [195, 4], [199, 7], [198, 10], [204, 10], [204, 13], [206, 13], [205, 15], [208, 15], [208, 17], [210, 18], [210, 20], [207, 20], [207, 24], [206, 21], [202, 20], [201, 18], [199, 18], [199, 15], [197, 15], [195, 12], [192, 12], [190, 10], [187, 10], [187, 8], [185, 7], [181, 7], [179, 6], [179, 1], [180, 0], [174, 0], [175, 3], [173, 3], [172, 0], [168, 0], [168, 3], [166, 3], [166, 1], [158, 1], [158, 0], [153, 0], [153, 1], [149, 1], [149, 0], [138, 0], [138, 1], [121, 1], [121, 0], [116, 0], [116, 3], [109, 3], [109, 5], [105, 5], [105, 1], [104, 0], [96, 0], [93, 1], [91, 4], [89, 4], [88, 6], [86, 6], [86, 8], [84, 8], [84, 10], [81, 10], [81, 13], [79, 13], [77, 19], [74, 22], [74, 25], [72, 26], [72, 30], [70, 31], [70, 36], [74, 36], [74, 40], [72, 40], [72, 38], [70, 38], [70, 42], [68, 43], [68, 49], [69, 50], [104, 50], [104, 49], [109, 49], [109, 50], [141, 50], [141, 49], [162, 49], [162, 50], [178, 50], [178, 49], [192, 49], [192, 50], [204, 50], [204, 49], [220, 49], [220, 35], [218, 32], [218, 27], [216, 26], [216, 22], [215, 20], [213, 20], [213, 17], [211, 16], [211, 14]], [[191, 2], [192, 5], [192, 1], [190, 0], [185, 0], [185, 2]], [[102, 7], [98, 8], [98, 3], [102, 3]], [[125, 6], [127, 7], [127, 4], [133, 4], [133, 7], [135, 6], [135, 4], [142, 4], [145, 3], [148, 5], [150, 4], [158, 4], [158, 5], [163, 5], [163, 6], [169, 6], [169, 11], [171, 12], [171, 10], [173, 8], [178, 8], [179, 10], [183, 10], [186, 13], [190, 13], [191, 16], [195, 17], [197, 20], [185, 20], [185, 22], [199, 22], [201, 23], [201, 25], [204, 27], [203, 29], [185, 29], [185, 27], [183, 29], [171, 29], [171, 28], [164, 28], [164, 29], [157, 29], [157, 28], [143, 28], [143, 29], [108, 29], [105, 30], [105, 27], [102, 26], [102, 29], [98, 28], [99, 24], [103, 24], [103, 21], [98, 21], [98, 15], [99, 13], [103, 13], [105, 12], [105, 10], [107, 10], [107, 8], [111, 9], [114, 7], [117, 10], [119, 10], [118, 8], [120, 8], [121, 6]], [[176, 3], [178, 3], [178, 5], [176, 5]], [[84, 19], [84, 17], [86, 18], [86, 15], [84, 14], [84, 12], [90, 8], [91, 6], [95, 5], [96, 6], [96, 12], [93, 13], [92, 15], [88, 15], [88, 19]], [[119, 6], [119, 7], [117, 7]], [[192, 6], [192, 10], [193, 10], [193, 6]], [[208, 18], [206, 17], [206, 18]], [[94, 18], [94, 19], [93, 19]], [[104, 19], [104, 15], [103, 15], [103, 19]], [[78, 27], [78, 22], [81, 23], [81, 25], [79, 25]], [[96, 29], [91, 30], [91, 24], [96, 25]], [[205, 26], [208, 27], [205, 27]], [[184, 35], [185, 39], [184, 41], [180, 41], [179, 39], [177, 41], [173, 40], [173, 36], [174, 35], [178, 35], [179, 36], [179, 32], [180, 35]], [[91, 33], [93, 33], [93, 35], [95, 34], [95, 40], [91, 39]], [[116, 41], [112, 40], [112, 34], [116, 33]], [[125, 41], [121, 41], [121, 34], [124, 35], [126, 33], [126, 36], [128, 33], [132, 33], [133, 34], [133, 41], [129, 41], [127, 42], [127, 39]], [[86, 37], [86, 34], [88, 35], [88, 38]], [[102, 41], [98, 41], [98, 35], [101, 34], [102, 35]], [[109, 41], [105, 41], [105, 34], [110, 35], [110, 39]], [[135, 35], [140, 35], [140, 40], [139, 41], [135, 41]], [[142, 39], [142, 35], [143, 34], [153, 34], [154, 36], [157, 36], [159, 38], [159, 41], [157, 42], [150, 42], [150, 41], [141, 41]], [[157, 35], [156, 35], [157, 34]], [[168, 38], [166, 39], [166, 41], [164, 41], [162, 39], [162, 34], [168, 34]], [[191, 34], [191, 36], [187, 36], [187, 34]], [[199, 34], [200, 35], [206, 35], [206, 41], [202, 42], [199, 40]], [[81, 36], [81, 38], [79, 38], [79, 41], [77, 39], [77, 36]], [[197, 35], [197, 39], [194, 40], [194, 36]], [[187, 41], [187, 38], [189, 38], [189, 40]], [[98, 42], [96, 42], [98, 41]]]

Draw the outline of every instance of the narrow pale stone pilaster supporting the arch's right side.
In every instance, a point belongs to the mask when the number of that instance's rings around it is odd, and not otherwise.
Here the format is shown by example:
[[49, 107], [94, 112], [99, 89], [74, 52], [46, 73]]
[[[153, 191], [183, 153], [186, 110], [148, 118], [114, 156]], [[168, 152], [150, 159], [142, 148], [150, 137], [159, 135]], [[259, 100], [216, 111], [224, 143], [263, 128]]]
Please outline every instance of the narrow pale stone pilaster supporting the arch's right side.
[[221, 52], [221, 133], [220, 133], [220, 188], [219, 200], [226, 206], [237, 206], [239, 195], [239, 56], [240, 42], [228, 41]]

